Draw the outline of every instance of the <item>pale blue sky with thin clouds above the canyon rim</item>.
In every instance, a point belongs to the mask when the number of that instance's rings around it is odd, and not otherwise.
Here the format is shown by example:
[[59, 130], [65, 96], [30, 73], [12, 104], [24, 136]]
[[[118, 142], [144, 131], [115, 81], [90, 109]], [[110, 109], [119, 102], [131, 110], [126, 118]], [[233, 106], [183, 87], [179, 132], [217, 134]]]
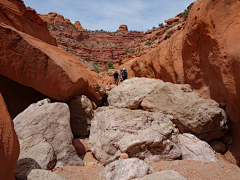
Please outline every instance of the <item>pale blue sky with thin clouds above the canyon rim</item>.
[[116, 31], [121, 24], [128, 30], [147, 31], [184, 11], [194, 0], [23, 0], [39, 14], [56, 12], [80, 21], [88, 30]]

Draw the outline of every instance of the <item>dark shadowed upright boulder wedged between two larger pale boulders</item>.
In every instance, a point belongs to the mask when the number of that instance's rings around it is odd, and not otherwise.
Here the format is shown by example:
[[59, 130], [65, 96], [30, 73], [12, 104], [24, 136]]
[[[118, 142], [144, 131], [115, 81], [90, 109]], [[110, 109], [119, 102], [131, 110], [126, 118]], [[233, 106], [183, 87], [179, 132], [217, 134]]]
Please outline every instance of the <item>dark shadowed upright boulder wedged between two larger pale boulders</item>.
[[70, 124], [73, 135], [87, 136], [93, 118], [92, 102], [84, 95], [73, 97], [69, 102]]

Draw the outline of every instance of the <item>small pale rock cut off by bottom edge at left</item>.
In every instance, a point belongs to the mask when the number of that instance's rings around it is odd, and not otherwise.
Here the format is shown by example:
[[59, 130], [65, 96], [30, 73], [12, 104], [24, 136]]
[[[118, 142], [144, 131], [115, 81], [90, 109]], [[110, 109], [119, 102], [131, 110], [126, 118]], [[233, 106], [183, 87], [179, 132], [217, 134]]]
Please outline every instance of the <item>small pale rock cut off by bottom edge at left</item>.
[[61, 176], [42, 169], [33, 169], [27, 176], [27, 180], [64, 180]]

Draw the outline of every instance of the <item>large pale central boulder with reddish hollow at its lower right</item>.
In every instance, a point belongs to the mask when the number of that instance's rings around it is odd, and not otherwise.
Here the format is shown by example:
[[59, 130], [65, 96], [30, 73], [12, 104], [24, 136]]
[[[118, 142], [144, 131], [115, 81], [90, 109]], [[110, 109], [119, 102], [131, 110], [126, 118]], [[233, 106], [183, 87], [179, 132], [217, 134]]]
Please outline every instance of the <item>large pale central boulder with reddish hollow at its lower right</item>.
[[167, 116], [142, 110], [98, 108], [90, 129], [89, 146], [103, 165], [121, 153], [147, 163], [181, 156], [177, 130]]

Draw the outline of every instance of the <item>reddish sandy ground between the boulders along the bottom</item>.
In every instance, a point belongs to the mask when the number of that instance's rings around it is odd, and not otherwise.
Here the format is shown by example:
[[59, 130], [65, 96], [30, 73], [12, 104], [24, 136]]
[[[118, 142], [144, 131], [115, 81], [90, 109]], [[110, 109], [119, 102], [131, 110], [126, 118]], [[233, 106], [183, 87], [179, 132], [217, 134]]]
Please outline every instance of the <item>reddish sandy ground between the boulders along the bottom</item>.
[[[151, 166], [155, 171], [175, 170], [187, 180], [240, 180], [240, 168], [216, 154], [218, 162], [200, 161], [161, 161]], [[100, 180], [99, 173], [103, 166], [88, 152], [83, 158], [84, 167], [65, 166], [55, 168], [53, 172], [66, 180]]]

